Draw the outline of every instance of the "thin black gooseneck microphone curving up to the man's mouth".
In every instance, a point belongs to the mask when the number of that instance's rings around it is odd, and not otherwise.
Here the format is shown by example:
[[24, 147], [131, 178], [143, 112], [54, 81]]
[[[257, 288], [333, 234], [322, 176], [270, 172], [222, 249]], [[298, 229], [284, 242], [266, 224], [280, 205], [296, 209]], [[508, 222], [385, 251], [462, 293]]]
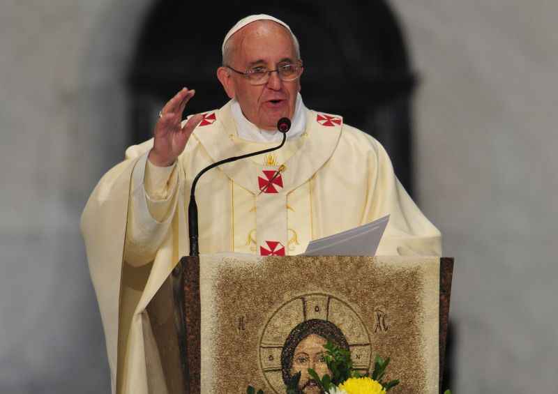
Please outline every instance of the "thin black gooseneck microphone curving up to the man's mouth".
[[281, 118], [277, 122], [277, 130], [279, 130], [283, 135], [281, 144], [279, 144], [274, 148], [264, 149], [263, 151], [246, 153], [245, 155], [234, 156], [232, 158], [219, 160], [218, 162], [214, 162], [213, 164], [208, 165], [196, 175], [194, 181], [192, 182], [192, 188], [190, 189], [190, 204], [188, 204], [188, 232], [190, 233], [190, 256], [199, 256], [197, 204], [195, 199], [195, 190], [196, 190], [196, 185], [197, 185], [197, 181], [199, 180], [199, 177], [205, 174], [206, 172], [208, 172], [210, 169], [218, 167], [219, 165], [225, 164], [227, 162], [234, 162], [236, 160], [241, 160], [241, 159], [249, 158], [251, 156], [256, 156], [262, 153], [268, 153], [280, 149], [285, 144], [285, 140], [287, 139], [287, 132], [290, 130], [290, 128], [291, 128], [290, 119], [286, 117]]

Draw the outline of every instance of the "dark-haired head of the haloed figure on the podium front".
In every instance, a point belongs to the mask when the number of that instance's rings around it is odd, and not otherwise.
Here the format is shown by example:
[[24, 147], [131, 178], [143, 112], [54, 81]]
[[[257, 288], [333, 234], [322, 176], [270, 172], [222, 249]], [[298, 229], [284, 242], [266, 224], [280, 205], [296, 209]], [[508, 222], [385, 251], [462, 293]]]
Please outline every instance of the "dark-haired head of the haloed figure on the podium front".
[[345, 335], [330, 321], [311, 319], [293, 328], [281, 353], [282, 377], [287, 386], [300, 372], [299, 393], [323, 393], [317, 382], [310, 377], [308, 369], [315, 370], [319, 377], [324, 374], [331, 376], [331, 371], [324, 361], [324, 345], [328, 341], [343, 349], [349, 349]]

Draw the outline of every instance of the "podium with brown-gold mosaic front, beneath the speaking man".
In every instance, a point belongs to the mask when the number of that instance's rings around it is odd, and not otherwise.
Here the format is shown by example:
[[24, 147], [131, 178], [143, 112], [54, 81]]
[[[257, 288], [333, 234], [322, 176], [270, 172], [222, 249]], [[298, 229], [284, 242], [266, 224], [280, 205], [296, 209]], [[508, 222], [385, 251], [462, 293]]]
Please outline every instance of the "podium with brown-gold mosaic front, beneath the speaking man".
[[361, 372], [390, 357], [393, 393], [437, 393], [452, 274], [439, 257], [183, 257], [146, 308], [149, 391], [285, 393], [313, 334]]

